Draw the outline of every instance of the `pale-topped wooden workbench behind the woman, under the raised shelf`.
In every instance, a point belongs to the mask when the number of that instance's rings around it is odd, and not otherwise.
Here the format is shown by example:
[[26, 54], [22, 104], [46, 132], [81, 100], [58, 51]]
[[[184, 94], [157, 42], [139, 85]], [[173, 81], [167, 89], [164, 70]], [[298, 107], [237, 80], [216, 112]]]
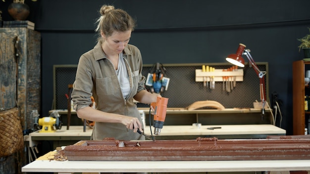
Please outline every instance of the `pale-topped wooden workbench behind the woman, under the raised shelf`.
[[[208, 130], [207, 128], [217, 127], [220, 129]], [[70, 126], [66, 130], [66, 126], [62, 126], [61, 130], [55, 132], [39, 132], [29, 133], [29, 146], [35, 146], [37, 141], [52, 140], [53, 149], [57, 146], [71, 145], [79, 140], [89, 140], [92, 129], [83, 126]], [[154, 128], [152, 127], [152, 131]], [[150, 127], [147, 126], [145, 133], [150, 135]], [[219, 139], [232, 138], [266, 138], [268, 135], [285, 135], [286, 131], [273, 125], [202, 125], [200, 129], [190, 126], [163, 126], [160, 135], [156, 139], [196, 139], [197, 137], [217, 137]]]

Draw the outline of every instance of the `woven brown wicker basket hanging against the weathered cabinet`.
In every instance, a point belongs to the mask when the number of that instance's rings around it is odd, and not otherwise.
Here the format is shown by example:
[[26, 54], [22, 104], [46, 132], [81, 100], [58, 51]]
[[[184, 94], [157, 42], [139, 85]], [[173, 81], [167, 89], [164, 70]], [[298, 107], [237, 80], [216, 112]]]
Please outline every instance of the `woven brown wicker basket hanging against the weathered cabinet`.
[[24, 146], [18, 108], [0, 112], [0, 157], [9, 156]]

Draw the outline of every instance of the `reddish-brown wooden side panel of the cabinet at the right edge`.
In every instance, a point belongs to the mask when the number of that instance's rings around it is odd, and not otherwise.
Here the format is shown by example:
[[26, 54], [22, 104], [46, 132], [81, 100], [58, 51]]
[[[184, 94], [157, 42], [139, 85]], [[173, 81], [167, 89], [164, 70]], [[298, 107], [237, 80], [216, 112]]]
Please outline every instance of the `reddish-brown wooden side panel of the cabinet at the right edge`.
[[[310, 112], [305, 112], [305, 96], [310, 95], [308, 87], [305, 86], [305, 72], [310, 61], [293, 62], [293, 134], [305, 134], [306, 117]], [[307, 90], [306, 90], [307, 89]], [[307, 115], [308, 114], [308, 115]]]

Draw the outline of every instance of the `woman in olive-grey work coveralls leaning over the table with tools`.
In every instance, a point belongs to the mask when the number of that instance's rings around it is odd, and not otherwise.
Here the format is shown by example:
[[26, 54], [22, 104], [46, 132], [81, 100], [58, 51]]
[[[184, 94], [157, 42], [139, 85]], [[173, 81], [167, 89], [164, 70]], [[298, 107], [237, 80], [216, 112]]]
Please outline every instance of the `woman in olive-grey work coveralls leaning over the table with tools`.
[[[103, 5], [96, 31], [97, 45], [79, 60], [72, 100], [77, 116], [95, 122], [92, 139], [143, 140], [144, 129], [133, 99], [156, 102], [158, 94], [144, 88], [140, 50], [128, 44], [135, 22], [122, 9]], [[96, 101], [96, 109], [91, 96]]]

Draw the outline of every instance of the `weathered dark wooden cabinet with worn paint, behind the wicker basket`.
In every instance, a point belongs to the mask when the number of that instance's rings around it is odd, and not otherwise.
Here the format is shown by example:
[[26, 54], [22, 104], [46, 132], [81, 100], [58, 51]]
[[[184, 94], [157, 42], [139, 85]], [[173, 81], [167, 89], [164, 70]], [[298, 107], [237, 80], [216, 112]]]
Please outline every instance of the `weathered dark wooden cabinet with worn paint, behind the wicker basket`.
[[[21, 127], [30, 129], [32, 110], [41, 107], [41, 34], [27, 28], [0, 28], [0, 110], [19, 108]], [[20, 154], [1, 161], [0, 173], [17, 169]], [[19, 160], [18, 163], [14, 162]], [[18, 173], [16, 171], [16, 173]]]

